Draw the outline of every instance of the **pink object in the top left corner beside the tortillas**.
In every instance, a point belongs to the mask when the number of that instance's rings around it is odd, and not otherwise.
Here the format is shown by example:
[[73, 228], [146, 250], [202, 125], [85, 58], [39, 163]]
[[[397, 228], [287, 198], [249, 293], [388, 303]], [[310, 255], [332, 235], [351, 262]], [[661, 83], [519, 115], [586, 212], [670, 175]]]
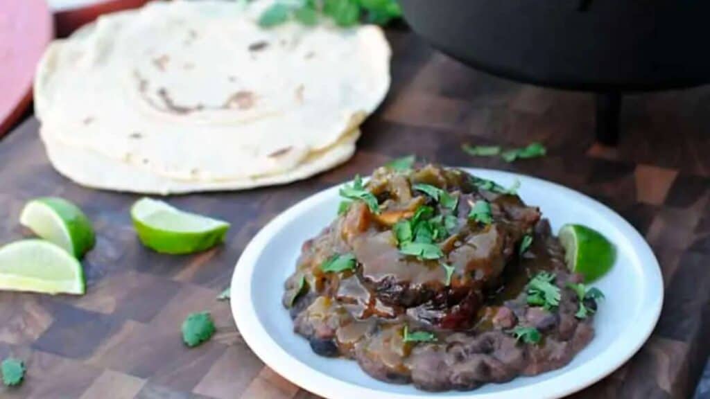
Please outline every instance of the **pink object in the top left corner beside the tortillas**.
[[44, 0], [0, 1], [0, 136], [30, 103], [35, 67], [53, 31]]

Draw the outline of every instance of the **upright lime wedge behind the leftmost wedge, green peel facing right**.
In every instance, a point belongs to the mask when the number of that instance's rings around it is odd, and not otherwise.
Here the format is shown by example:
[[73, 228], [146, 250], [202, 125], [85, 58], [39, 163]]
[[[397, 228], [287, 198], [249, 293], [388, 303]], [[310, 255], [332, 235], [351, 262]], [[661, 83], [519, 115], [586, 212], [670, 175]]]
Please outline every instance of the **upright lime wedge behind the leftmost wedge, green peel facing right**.
[[28, 202], [20, 214], [20, 224], [77, 258], [96, 244], [89, 218], [75, 204], [62, 198], [45, 197]]

